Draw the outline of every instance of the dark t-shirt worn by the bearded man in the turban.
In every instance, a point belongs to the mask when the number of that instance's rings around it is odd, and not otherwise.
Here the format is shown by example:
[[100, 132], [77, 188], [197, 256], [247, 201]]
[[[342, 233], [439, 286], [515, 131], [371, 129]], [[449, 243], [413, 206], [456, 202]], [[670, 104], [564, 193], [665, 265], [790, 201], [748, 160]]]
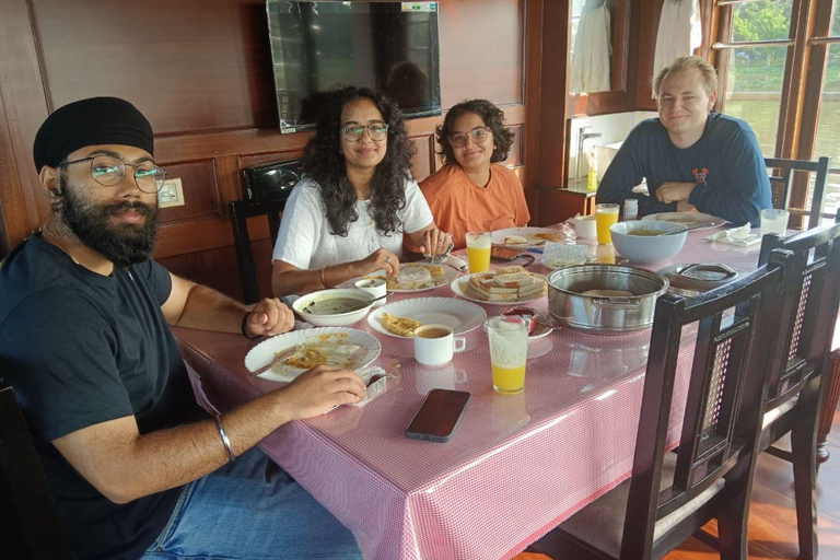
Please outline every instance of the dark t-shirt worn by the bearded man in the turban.
[[104, 277], [37, 236], [0, 267], [0, 374], [14, 387], [75, 558], [139, 558], [179, 495], [113, 503], [51, 443], [127, 416], [140, 433], [207, 418], [161, 311], [171, 290], [152, 260]]

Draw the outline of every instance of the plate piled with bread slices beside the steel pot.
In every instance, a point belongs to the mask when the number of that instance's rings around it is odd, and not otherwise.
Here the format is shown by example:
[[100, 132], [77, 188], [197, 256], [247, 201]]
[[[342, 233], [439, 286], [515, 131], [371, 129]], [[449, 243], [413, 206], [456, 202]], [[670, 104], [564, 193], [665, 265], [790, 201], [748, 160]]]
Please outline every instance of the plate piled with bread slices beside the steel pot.
[[522, 267], [503, 267], [490, 272], [456, 278], [450, 284], [456, 295], [478, 303], [510, 305], [539, 300], [547, 293], [546, 277]]

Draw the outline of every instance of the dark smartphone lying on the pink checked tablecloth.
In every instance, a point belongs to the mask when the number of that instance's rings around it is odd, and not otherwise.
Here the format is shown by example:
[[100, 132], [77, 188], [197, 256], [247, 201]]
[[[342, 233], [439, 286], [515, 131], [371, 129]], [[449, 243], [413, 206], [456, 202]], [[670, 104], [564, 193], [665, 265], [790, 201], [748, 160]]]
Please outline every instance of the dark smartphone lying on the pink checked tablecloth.
[[432, 389], [406, 428], [406, 438], [447, 442], [469, 402], [466, 390]]

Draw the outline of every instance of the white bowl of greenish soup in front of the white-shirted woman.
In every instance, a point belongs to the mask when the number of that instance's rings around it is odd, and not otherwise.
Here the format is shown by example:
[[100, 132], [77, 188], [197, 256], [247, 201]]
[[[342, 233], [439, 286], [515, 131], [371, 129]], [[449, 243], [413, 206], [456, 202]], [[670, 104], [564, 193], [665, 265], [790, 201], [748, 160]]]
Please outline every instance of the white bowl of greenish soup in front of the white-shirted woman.
[[316, 327], [346, 327], [368, 315], [373, 300], [370, 293], [353, 288], [320, 290], [299, 298], [292, 308]]

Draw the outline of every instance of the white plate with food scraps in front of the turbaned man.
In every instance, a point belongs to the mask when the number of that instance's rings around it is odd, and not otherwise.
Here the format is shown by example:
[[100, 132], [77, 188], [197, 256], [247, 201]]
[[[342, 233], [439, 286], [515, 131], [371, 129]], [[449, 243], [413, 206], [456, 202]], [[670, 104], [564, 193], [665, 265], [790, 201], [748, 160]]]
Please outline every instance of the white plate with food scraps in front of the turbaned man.
[[260, 342], [245, 355], [245, 368], [264, 380], [288, 383], [316, 365], [364, 368], [381, 351], [380, 341], [368, 332], [347, 327], [315, 327]]

